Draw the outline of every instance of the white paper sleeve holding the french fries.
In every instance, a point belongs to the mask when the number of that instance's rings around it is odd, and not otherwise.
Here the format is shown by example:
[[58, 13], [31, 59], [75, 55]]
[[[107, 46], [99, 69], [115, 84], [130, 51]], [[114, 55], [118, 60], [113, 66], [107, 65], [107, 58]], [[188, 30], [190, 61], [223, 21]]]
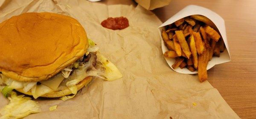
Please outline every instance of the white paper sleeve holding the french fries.
[[[212, 57], [212, 59], [208, 62], [207, 70], [212, 68], [214, 65], [218, 65], [218, 64], [221, 64], [224, 62], [231, 61], [230, 51], [229, 51], [228, 44], [227, 44], [227, 33], [226, 33], [224, 20], [221, 18], [221, 16], [219, 16], [215, 12], [213, 12], [207, 8], [203, 8], [203, 7], [195, 6], [195, 5], [186, 6], [181, 11], [179, 11], [177, 14], [175, 14], [171, 18], [169, 18], [169, 20], [167, 20], [161, 26], [159, 26], [158, 31], [159, 31], [159, 34], [161, 37], [161, 46], [162, 46], [163, 54], [169, 50], [163, 42], [163, 38], [161, 35], [162, 28], [164, 26], [174, 23], [177, 20], [180, 20], [181, 18], [190, 16], [190, 15], [196, 15], [196, 14], [203, 15], [203, 16], [209, 18], [215, 24], [215, 26], [218, 28], [218, 31], [220, 32], [220, 35], [223, 38], [223, 41], [226, 46], [226, 49], [224, 50], [224, 52], [222, 52], [220, 54], [220, 57]], [[168, 63], [168, 65], [170, 66], [170, 68], [172, 68], [172, 65], [175, 63], [175, 58], [165, 57], [165, 59], [166, 59], [166, 62]], [[178, 73], [183, 73], [183, 74], [197, 74], [198, 73], [198, 71], [189, 71], [187, 68], [181, 69], [180, 67], [178, 67], [176, 69], [172, 68], [172, 70], [174, 70]]]

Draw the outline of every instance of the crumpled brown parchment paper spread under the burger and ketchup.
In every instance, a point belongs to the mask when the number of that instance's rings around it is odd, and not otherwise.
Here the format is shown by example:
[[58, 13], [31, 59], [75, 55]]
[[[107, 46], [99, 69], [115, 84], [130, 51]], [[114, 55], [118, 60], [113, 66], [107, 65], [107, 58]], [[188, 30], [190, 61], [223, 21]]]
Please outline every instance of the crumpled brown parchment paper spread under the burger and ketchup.
[[[25, 119], [236, 119], [236, 113], [209, 82], [172, 71], [163, 58], [157, 31], [162, 23], [141, 6], [92, 3], [87, 0], [4, 0], [0, 21], [24, 12], [70, 15], [123, 74], [122, 79], [96, 78], [73, 98], [37, 99], [42, 112]], [[127, 17], [123, 30], [103, 28], [108, 17]], [[0, 95], [0, 108], [8, 104]], [[196, 105], [193, 105], [196, 104]], [[49, 107], [58, 105], [57, 110]]]

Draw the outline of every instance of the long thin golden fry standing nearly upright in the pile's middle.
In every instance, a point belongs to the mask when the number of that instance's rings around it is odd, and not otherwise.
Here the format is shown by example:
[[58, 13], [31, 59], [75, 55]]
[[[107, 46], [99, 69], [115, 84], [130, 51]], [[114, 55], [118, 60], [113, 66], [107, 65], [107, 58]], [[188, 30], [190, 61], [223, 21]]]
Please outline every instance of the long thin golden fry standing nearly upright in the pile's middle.
[[195, 39], [193, 35], [190, 35], [189, 41], [190, 41], [189, 45], [190, 45], [190, 49], [191, 49], [193, 61], [194, 61], [194, 67], [198, 68], [198, 55], [197, 55], [197, 49], [196, 49]]

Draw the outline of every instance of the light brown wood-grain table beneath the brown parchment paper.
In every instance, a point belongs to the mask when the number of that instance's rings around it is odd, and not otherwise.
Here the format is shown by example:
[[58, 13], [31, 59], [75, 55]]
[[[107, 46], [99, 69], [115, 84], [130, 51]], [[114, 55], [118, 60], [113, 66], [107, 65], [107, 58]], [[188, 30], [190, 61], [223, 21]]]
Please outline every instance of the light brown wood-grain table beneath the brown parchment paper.
[[[131, 4], [130, 0], [103, 0], [108, 4]], [[172, 0], [153, 12], [168, 20], [188, 5], [209, 8], [226, 23], [231, 62], [208, 70], [208, 81], [242, 119], [256, 118], [256, 1], [255, 0]]]

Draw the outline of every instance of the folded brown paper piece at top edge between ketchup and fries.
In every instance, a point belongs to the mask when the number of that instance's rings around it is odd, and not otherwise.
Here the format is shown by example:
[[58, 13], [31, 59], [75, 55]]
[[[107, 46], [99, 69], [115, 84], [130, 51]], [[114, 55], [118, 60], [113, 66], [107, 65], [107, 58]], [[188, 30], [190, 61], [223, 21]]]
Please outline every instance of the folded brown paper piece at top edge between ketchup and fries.
[[171, 0], [135, 0], [140, 6], [147, 10], [153, 10], [155, 8], [160, 8], [169, 5]]

